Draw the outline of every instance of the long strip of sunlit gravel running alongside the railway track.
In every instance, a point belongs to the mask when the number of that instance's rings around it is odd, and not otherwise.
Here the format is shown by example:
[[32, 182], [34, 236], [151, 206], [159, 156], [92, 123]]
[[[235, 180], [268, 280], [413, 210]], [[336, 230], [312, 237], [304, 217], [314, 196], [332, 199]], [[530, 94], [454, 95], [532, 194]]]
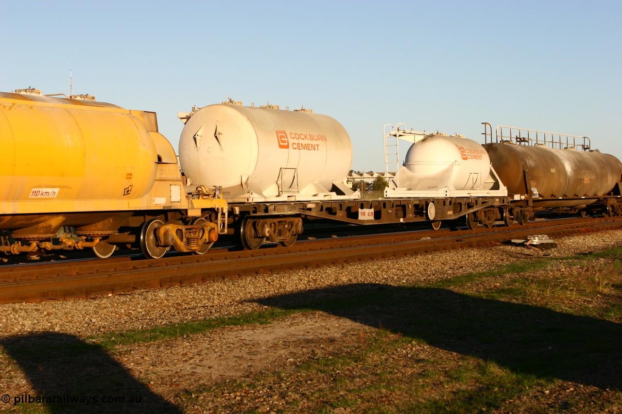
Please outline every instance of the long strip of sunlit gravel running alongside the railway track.
[[432, 282], [526, 257], [564, 257], [620, 246], [622, 230], [564, 237], [556, 242], [557, 248], [543, 252], [515, 246], [481, 247], [159, 290], [136, 290], [86, 300], [0, 305], [0, 338], [38, 331], [85, 337], [259, 310], [265, 306], [254, 300], [313, 288], [349, 283]]

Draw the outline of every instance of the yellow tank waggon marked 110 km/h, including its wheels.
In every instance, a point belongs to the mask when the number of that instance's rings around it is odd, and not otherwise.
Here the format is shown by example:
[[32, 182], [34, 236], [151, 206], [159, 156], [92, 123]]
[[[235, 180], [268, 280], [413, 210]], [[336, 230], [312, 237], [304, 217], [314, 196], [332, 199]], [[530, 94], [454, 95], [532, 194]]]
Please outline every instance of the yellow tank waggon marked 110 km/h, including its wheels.
[[226, 231], [226, 201], [185, 185], [156, 113], [89, 95], [0, 93], [0, 149], [1, 251], [108, 257], [139, 244], [156, 258], [170, 247], [204, 253]]

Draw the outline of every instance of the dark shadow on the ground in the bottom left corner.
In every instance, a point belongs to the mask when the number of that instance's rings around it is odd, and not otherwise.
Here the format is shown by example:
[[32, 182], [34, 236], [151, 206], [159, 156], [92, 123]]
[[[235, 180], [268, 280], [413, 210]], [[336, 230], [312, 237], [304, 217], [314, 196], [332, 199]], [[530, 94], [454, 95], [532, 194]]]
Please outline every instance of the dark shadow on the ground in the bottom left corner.
[[75, 336], [27, 334], [1, 339], [0, 346], [17, 361], [35, 389], [30, 395], [9, 395], [8, 402], [3, 399], [6, 405], [17, 402], [17, 407], [34, 412], [47, 406], [52, 413], [180, 412], [134, 379], [103, 348]]

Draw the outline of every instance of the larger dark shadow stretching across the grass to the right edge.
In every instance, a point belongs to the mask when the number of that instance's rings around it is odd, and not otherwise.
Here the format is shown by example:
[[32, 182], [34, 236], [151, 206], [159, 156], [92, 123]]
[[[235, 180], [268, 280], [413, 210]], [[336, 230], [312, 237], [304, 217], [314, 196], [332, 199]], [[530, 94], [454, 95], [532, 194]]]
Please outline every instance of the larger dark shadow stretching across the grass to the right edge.
[[494, 361], [514, 372], [622, 390], [622, 325], [441, 288], [353, 284], [259, 300], [312, 308]]

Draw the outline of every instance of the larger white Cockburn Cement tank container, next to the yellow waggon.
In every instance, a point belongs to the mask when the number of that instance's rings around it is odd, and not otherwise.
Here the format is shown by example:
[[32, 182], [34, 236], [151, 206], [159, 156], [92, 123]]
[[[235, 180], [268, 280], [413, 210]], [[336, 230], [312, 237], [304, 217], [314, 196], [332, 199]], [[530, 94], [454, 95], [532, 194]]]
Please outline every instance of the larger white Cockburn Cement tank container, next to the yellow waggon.
[[350, 136], [330, 116], [223, 103], [180, 118], [183, 173], [230, 202], [358, 198], [343, 183]]

